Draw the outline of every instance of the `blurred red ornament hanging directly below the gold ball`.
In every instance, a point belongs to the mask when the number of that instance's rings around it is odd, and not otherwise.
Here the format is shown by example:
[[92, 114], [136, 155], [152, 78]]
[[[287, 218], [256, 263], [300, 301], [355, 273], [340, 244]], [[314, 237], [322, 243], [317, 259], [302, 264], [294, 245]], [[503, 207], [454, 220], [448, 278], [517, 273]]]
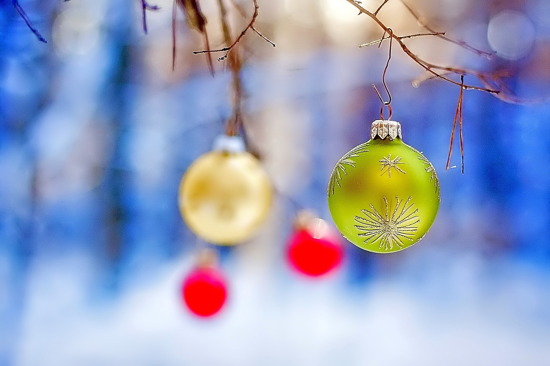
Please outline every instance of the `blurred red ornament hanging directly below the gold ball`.
[[182, 295], [191, 312], [200, 317], [210, 317], [226, 302], [226, 280], [218, 269], [200, 266], [185, 278]]

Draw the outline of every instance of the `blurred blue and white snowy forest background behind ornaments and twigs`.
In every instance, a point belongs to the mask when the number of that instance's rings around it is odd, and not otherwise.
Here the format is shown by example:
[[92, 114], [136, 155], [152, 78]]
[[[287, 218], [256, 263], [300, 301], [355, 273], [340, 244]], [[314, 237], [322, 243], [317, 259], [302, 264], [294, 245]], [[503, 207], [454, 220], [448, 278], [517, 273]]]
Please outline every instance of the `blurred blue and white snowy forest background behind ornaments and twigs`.
[[[409, 40], [421, 57], [509, 70], [515, 95], [550, 95], [546, 0], [408, 3], [497, 52]], [[357, 48], [382, 32], [345, 0], [259, 0], [257, 28], [277, 47], [254, 33], [239, 46], [245, 130], [278, 194], [254, 240], [216, 248], [227, 306], [186, 311], [180, 285], [208, 244], [185, 227], [177, 188], [223, 133], [230, 75], [223, 62], [208, 74], [183, 19], [172, 72], [172, 2], [155, 4], [144, 35], [137, 0], [21, 1], [44, 44], [0, 0], [0, 365], [550, 364], [549, 104], [466, 91], [465, 173], [458, 149], [445, 171], [459, 89], [413, 88], [421, 70], [395, 48], [393, 119], [438, 171], [436, 222], [392, 255], [347, 243], [320, 280], [285, 262], [296, 211], [330, 220], [329, 174], [379, 117], [370, 85], [387, 44]], [[245, 20], [227, 5], [237, 33]], [[217, 2], [201, 6], [217, 47]], [[398, 0], [379, 15], [396, 34], [421, 30]]]

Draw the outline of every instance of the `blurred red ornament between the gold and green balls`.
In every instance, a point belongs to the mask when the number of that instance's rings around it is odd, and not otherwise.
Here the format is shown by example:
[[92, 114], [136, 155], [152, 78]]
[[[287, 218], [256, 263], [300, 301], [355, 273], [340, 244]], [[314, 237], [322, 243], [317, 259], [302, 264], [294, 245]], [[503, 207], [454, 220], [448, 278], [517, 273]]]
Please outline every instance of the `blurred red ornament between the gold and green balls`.
[[322, 219], [312, 218], [306, 225], [298, 219], [296, 231], [289, 239], [288, 261], [301, 273], [317, 277], [342, 262], [342, 245], [331, 235]]

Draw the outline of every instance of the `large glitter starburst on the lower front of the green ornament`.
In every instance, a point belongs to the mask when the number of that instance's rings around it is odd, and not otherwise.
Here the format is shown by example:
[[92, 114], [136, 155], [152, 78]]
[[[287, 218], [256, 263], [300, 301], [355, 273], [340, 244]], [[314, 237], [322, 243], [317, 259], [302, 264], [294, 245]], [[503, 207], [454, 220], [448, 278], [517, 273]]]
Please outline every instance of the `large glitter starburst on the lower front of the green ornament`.
[[[357, 234], [358, 237], [365, 238], [364, 244], [371, 241], [371, 244], [379, 243], [378, 249], [384, 250], [393, 249], [396, 245], [399, 249], [403, 249], [407, 241], [412, 241], [420, 222], [418, 209], [413, 210], [414, 202], [410, 203], [412, 196], [405, 201], [400, 200], [395, 196], [397, 203], [393, 210], [388, 207], [388, 200], [384, 197], [385, 207], [378, 212], [375, 207], [370, 204], [371, 210], [361, 210], [364, 216], [355, 216], [355, 221], [360, 225], [354, 227], [362, 233]], [[403, 204], [403, 205], [402, 205]]]

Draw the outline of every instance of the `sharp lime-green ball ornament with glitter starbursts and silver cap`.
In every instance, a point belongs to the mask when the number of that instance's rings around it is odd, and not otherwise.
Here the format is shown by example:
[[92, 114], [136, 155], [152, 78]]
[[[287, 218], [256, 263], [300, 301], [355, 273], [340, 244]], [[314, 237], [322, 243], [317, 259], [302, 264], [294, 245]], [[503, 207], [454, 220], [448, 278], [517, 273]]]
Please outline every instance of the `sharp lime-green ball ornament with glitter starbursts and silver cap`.
[[371, 139], [340, 159], [328, 185], [328, 207], [351, 243], [371, 252], [395, 252], [428, 232], [439, 209], [436, 171], [401, 141], [401, 125], [374, 121]]

